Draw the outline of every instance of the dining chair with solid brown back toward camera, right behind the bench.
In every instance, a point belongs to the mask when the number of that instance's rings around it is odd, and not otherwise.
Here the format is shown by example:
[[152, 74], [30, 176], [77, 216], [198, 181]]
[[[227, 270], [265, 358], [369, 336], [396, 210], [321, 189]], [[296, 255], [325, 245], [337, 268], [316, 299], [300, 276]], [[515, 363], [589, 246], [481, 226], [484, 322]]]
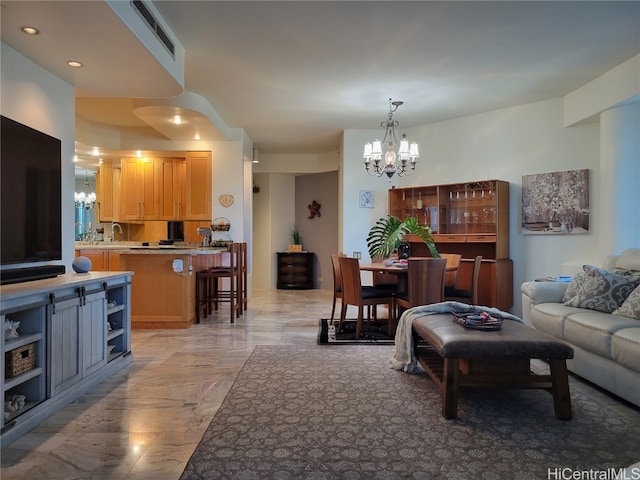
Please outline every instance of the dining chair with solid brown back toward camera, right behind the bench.
[[407, 291], [395, 296], [396, 318], [401, 309], [442, 302], [446, 268], [444, 258], [409, 258]]

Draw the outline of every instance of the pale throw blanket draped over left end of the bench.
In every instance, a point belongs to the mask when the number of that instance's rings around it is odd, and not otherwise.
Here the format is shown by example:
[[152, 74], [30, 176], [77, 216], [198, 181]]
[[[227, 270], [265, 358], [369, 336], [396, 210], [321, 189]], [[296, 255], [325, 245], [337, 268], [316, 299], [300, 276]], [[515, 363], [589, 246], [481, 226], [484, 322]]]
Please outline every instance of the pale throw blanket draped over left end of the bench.
[[407, 373], [420, 372], [421, 369], [418, 366], [415, 352], [413, 350], [413, 334], [411, 331], [413, 320], [427, 315], [449, 312], [487, 312], [489, 314], [494, 313], [500, 315], [505, 319], [515, 320], [517, 322], [523, 323], [522, 319], [508, 312], [498, 310], [497, 308], [482, 307], [479, 305], [467, 305], [466, 303], [460, 302], [442, 302], [409, 308], [402, 314], [402, 316], [400, 317], [400, 321], [398, 322], [398, 328], [396, 329], [395, 349], [393, 352], [393, 357], [391, 357], [391, 368], [393, 368], [394, 370], [402, 370]]

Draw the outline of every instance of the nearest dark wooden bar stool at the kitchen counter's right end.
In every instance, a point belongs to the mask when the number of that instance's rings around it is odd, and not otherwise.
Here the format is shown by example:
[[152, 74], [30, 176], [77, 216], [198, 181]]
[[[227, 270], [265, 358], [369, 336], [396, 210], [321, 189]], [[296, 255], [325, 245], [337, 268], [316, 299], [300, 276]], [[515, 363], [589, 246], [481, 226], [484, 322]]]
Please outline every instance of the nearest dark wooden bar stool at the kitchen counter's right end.
[[[212, 305], [218, 310], [219, 303], [229, 303], [229, 311], [231, 314], [231, 323], [236, 317], [240, 317], [246, 288], [243, 287], [243, 273], [240, 262], [243, 262], [246, 268], [246, 260], [243, 261], [243, 247], [239, 242], [230, 243], [227, 251], [229, 252], [229, 265], [211, 267], [196, 273], [196, 323], [200, 323], [200, 314], [204, 310], [205, 315], [210, 315]], [[244, 244], [244, 258], [246, 259], [246, 243]], [[228, 285], [221, 286], [221, 280], [227, 280]], [[244, 282], [246, 283], [246, 282]], [[246, 303], [244, 304], [246, 305]]]

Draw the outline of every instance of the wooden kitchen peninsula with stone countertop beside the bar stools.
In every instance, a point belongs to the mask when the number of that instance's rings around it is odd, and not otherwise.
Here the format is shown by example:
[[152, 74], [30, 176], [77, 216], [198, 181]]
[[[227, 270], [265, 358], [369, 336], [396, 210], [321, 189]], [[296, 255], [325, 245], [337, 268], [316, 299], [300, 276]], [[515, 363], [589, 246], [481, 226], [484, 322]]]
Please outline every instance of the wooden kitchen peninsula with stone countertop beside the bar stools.
[[132, 328], [188, 328], [195, 323], [196, 272], [220, 265], [226, 249], [163, 246], [118, 251], [131, 284]]

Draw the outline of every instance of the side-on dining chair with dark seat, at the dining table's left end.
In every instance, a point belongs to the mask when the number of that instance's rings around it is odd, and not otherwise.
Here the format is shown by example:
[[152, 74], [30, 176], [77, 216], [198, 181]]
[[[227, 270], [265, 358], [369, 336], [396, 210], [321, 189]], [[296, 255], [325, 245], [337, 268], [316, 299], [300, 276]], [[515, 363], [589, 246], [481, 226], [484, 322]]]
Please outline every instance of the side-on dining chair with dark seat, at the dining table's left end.
[[[377, 289], [372, 286], [363, 286], [360, 279], [360, 262], [357, 258], [339, 257], [340, 272], [342, 274], [342, 308], [340, 309], [340, 322], [338, 331], [346, 319], [347, 306], [354, 305], [358, 308], [358, 318], [356, 320], [356, 340], [360, 338], [364, 317], [364, 307], [387, 305], [387, 333], [389, 336], [394, 332], [394, 298], [393, 294], [385, 289]], [[374, 314], [374, 318], [376, 315]]]

